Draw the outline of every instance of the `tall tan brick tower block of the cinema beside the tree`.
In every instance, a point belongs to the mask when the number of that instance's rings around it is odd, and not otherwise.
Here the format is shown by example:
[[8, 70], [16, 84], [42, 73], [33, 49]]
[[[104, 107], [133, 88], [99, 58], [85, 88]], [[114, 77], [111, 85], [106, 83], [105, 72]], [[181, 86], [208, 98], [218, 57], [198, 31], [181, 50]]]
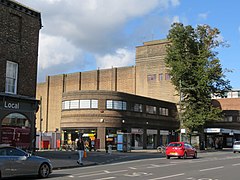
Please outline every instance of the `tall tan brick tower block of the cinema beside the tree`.
[[[164, 63], [167, 41], [151, 41], [136, 49], [136, 94], [177, 103], [179, 98], [170, 80], [165, 80]], [[163, 80], [159, 75], [163, 74]], [[148, 81], [148, 75], [156, 79]]]

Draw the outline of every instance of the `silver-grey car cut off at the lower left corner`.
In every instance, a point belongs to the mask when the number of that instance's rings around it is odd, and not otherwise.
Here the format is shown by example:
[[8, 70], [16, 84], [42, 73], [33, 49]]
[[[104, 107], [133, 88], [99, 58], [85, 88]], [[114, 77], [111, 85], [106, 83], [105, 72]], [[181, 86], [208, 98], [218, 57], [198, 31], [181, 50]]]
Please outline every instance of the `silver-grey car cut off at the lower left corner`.
[[31, 155], [16, 147], [0, 146], [0, 179], [23, 175], [46, 178], [50, 173], [52, 164], [49, 159]]

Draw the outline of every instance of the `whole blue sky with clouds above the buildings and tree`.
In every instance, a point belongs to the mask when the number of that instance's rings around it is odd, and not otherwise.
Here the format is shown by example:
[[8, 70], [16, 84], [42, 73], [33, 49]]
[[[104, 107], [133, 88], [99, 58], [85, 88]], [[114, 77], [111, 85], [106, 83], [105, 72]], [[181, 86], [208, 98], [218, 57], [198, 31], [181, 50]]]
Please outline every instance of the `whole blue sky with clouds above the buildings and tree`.
[[230, 47], [218, 57], [240, 89], [240, 1], [219, 0], [16, 0], [39, 12], [38, 82], [47, 75], [135, 64], [135, 47], [166, 38], [173, 22], [208, 24]]

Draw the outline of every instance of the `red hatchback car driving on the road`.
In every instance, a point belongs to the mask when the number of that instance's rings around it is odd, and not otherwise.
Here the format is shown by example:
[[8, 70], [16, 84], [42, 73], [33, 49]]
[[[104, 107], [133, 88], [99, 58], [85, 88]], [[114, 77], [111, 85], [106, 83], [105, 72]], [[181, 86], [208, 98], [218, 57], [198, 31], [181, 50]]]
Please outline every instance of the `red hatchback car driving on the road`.
[[197, 158], [197, 150], [186, 142], [171, 142], [166, 147], [166, 158], [170, 159], [170, 157]]

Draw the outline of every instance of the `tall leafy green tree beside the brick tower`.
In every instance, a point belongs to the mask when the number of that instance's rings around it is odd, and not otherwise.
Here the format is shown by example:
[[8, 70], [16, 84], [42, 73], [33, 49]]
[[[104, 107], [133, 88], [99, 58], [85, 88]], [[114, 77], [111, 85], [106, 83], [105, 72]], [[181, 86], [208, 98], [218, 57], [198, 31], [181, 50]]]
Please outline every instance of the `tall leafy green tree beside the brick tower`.
[[172, 84], [181, 97], [181, 119], [188, 132], [201, 131], [206, 121], [219, 120], [222, 113], [211, 104], [211, 95], [223, 96], [231, 89], [225, 79], [218, 53], [226, 45], [219, 39], [220, 31], [208, 25], [184, 26], [174, 23], [168, 34], [165, 63]]

